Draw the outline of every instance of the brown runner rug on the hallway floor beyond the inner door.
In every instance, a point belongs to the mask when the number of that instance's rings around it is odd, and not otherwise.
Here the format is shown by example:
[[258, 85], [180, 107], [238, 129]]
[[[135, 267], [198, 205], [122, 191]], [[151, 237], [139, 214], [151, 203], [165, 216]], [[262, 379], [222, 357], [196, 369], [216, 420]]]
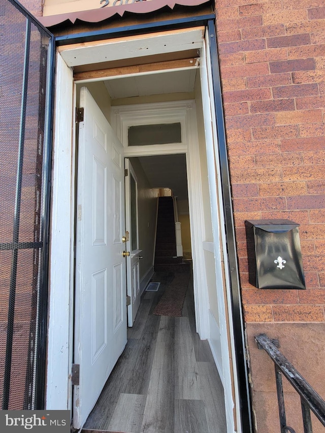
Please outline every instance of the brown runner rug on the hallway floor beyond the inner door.
[[175, 275], [174, 280], [166, 289], [160, 301], [153, 310], [157, 316], [181, 317], [187, 292], [189, 275]]

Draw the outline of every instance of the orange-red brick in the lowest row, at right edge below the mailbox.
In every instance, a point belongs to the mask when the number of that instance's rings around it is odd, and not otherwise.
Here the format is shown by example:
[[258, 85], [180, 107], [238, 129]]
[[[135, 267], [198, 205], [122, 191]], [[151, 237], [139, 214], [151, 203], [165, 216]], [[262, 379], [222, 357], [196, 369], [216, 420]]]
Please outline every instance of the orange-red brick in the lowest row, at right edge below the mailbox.
[[276, 322], [323, 322], [324, 310], [310, 305], [275, 305], [273, 315]]

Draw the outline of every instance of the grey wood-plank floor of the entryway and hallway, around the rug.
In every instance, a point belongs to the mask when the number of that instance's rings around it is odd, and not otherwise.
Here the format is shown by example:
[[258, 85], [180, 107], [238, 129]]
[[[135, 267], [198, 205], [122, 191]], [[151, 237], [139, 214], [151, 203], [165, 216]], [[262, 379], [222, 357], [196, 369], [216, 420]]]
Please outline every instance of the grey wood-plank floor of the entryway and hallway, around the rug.
[[83, 433], [225, 433], [223, 387], [194, 319], [192, 280], [182, 317], [153, 310], [174, 278], [157, 272], [158, 292], [144, 292], [128, 342]]

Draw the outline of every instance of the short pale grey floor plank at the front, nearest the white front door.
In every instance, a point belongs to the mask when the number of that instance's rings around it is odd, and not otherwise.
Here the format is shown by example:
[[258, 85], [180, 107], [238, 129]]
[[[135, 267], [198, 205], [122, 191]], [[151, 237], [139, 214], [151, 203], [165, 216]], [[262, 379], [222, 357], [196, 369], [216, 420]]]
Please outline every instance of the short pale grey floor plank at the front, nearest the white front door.
[[141, 429], [146, 397], [146, 395], [120, 394], [108, 429], [138, 433]]

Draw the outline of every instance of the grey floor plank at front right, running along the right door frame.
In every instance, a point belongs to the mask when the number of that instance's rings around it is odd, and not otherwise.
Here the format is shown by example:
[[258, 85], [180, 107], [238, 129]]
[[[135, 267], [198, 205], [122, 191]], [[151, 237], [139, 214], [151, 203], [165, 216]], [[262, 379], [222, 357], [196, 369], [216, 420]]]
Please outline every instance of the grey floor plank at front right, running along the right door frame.
[[224, 433], [226, 418], [224, 407], [223, 386], [212, 362], [198, 362], [200, 373], [201, 398], [205, 403], [206, 419], [209, 433]]

